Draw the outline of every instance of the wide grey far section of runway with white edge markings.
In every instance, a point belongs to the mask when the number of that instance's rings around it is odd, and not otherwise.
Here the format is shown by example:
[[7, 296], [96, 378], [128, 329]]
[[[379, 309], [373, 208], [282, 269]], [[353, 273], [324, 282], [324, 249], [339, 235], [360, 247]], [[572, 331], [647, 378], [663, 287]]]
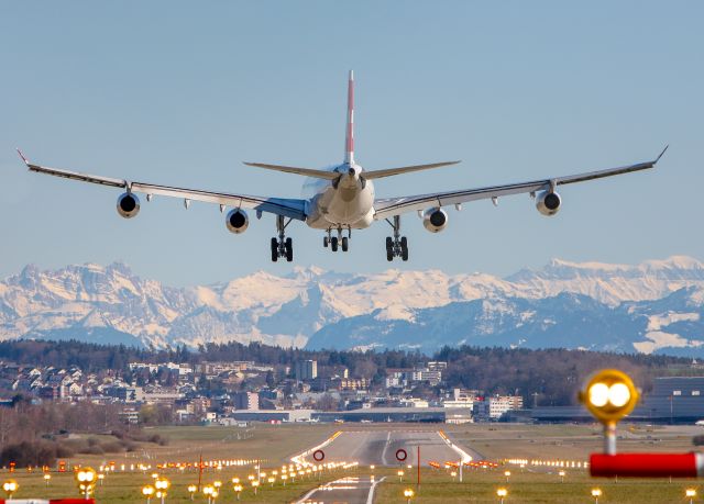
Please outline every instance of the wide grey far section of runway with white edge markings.
[[[429, 461], [459, 461], [463, 458], [437, 430], [344, 430], [320, 449], [326, 462], [356, 461], [360, 466], [396, 466], [399, 463], [396, 452], [405, 450], [403, 463], [416, 466], [418, 448], [421, 466]], [[459, 448], [476, 458], [472, 450]], [[306, 460], [316, 462], [312, 453], [308, 453]]]

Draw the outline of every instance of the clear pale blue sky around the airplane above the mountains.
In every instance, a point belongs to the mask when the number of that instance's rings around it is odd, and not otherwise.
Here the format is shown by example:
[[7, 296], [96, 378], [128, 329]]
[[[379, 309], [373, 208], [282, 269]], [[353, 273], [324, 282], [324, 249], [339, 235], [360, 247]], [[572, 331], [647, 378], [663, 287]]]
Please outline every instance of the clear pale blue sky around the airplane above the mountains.
[[[481, 187], [646, 160], [656, 171], [565, 188], [558, 216], [527, 195], [450, 211], [431, 235], [404, 219], [395, 268], [508, 275], [552, 257], [704, 258], [701, 2], [3, 2], [0, 7], [0, 276], [123, 260], [175, 285], [264, 269], [274, 219], [244, 235], [217, 206], [143, 202], [29, 173], [48, 166], [278, 197], [302, 180], [242, 160], [342, 160], [346, 72], [367, 169], [462, 159], [378, 181], [378, 197]], [[294, 265], [381, 271], [388, 226], [351, 253], [294, 223]]]

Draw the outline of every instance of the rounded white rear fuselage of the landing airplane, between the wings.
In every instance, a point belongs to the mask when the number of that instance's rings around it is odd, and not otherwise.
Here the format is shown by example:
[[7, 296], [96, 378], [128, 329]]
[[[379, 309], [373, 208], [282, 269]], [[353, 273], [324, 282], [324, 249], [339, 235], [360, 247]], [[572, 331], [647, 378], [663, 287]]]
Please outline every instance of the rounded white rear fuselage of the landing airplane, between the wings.
[[[304, 186], [310, 198], [306, 224], [315, 229], [363, 229], [374, 222], [374, 184], [365, 180], [360, 165], [342, 164], [331, 171], [334, 181], [308, 179]], [[312, 195], [310, 192], [312, 191]]]

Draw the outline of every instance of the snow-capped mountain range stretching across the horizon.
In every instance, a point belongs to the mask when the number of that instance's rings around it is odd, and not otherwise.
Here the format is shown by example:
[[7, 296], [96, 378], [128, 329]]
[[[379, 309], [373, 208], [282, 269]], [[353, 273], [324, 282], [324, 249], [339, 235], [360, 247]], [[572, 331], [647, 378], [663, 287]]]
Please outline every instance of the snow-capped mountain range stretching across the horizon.
[[297, 268], [176, 289], [122, 264], [25, 267], [0, 282], [0, 339], [309, 348], [569, 347], [704, 356], [704, 265], [553, 259], [501, 279]]

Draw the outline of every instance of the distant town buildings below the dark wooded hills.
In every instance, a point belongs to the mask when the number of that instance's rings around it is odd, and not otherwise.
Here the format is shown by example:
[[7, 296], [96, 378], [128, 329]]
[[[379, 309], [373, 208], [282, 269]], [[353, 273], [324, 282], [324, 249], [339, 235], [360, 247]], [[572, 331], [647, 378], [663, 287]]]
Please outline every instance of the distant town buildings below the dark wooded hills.
[[[64, 345], [64, 344], [58, 344]], [[584, 355], [588, 355], [584, 352]], [[672, 362], [670, 362], [672, 366]], [[704, 419], [704, 372], [697, 361], [679, 362], [693, 376], [654, 377], [631, 415], [648, 423]], [[358, 370], [364, 366], [355, 365]], [[91, 403], [117, 406], [127, 425], [246, 425], [251, 422], [591, 422], [578, 405], [539, 405], [540, 394], [487, 393], [448, 385], [447, 361], [351, 373], [344, 365], [317, 360], [272, 366], [251, 360], [127, 363], [87, 372], [79, 366], [31, 366], [0, 361], [0, 404]], [[672, 368], [671, 368], [672, 369]], [[160, 410], [156, 421], [155, 408]]]

